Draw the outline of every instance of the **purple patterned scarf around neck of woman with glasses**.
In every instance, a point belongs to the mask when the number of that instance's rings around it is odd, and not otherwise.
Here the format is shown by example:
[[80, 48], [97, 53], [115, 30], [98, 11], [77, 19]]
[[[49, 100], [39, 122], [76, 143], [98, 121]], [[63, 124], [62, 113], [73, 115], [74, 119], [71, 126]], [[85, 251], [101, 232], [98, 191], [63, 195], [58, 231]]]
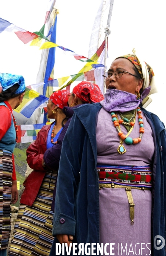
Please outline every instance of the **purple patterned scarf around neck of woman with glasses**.
[[142, 100], [148, 96], [150, 89], [151, 87], [149, 86], [143, 90], [139, 100], [136, 98], [135, 94], [116, 89], [107, 89], [104, 94], [104, 100], [102, 100], [100, 104], [107, 112], [120, 111], [123, 113], [131, 111], [137, 108]]

